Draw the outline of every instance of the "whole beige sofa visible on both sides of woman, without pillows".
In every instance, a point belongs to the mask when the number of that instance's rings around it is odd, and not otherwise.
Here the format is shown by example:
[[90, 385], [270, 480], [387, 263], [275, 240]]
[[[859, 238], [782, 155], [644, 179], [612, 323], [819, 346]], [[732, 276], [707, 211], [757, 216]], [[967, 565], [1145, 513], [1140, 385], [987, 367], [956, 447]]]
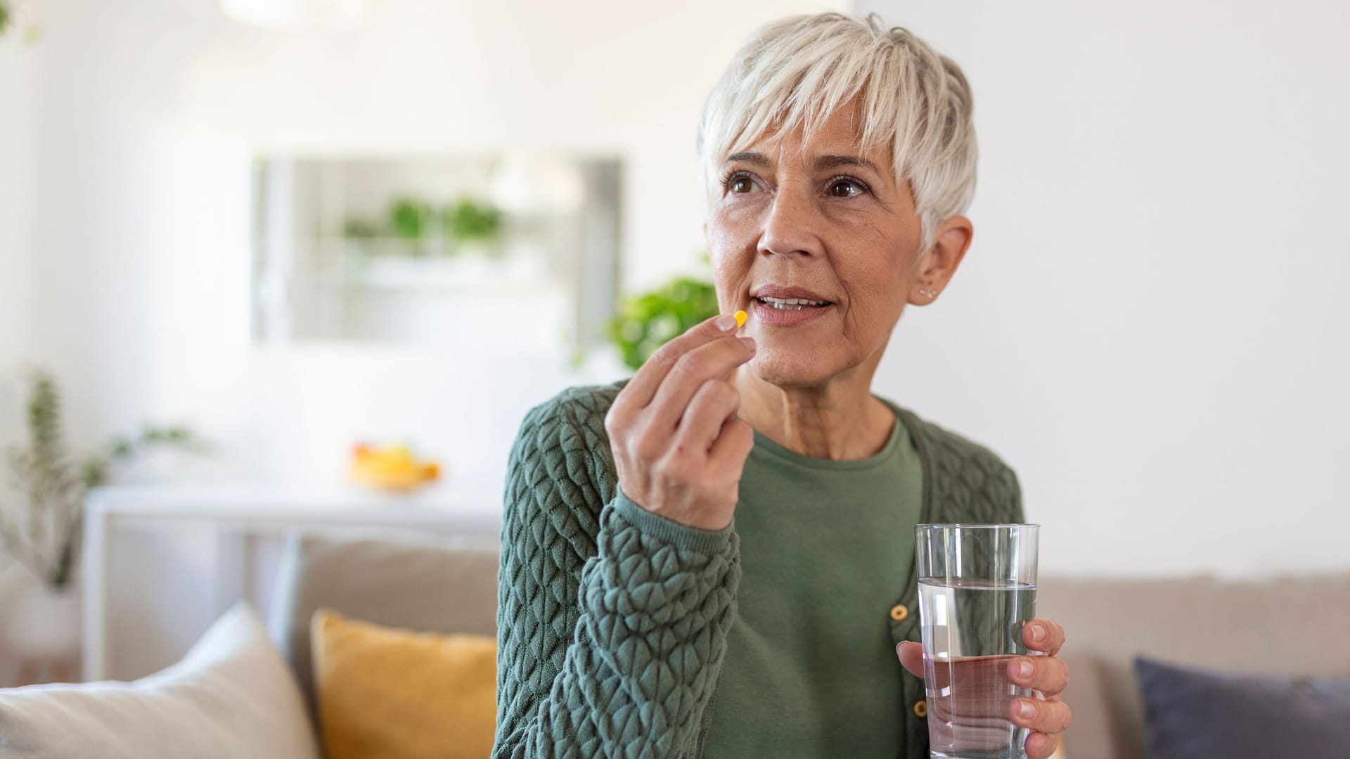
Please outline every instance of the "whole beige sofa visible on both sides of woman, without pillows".
[[[443, 543], [293, 536], [267, 610], [310, 729], [310, 617], [319, 608], [393, 628], [494, 635], [497, 554]], [[1135, 655], [1227, 671], [1350, 675], [1350, 575], [1224, 582], [1042, 578], [1037, 614], [1060, 621], [1073, 727], [1061, 755], [1145, 759]], [[0, 691], [0, 759], [5, 752]], [[42, 754], [31, 754], [38, 756]], [[134, 754], [130, 754], [134, 755]], [[1347, 754], [1350, 755], [1350, 754]]]

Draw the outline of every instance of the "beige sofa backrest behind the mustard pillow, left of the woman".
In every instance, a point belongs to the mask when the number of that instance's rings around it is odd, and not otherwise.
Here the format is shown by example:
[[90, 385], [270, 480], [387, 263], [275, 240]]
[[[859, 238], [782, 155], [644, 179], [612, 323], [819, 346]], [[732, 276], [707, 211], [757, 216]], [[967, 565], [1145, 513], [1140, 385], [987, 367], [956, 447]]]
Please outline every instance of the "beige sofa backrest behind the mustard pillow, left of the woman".
[[316, 710], [309, 621], [316, 609], [418, 632], [495, 636], [497, 560], [490, 547], [292, 536], [269, 632], [296, 673], [310, 716]]

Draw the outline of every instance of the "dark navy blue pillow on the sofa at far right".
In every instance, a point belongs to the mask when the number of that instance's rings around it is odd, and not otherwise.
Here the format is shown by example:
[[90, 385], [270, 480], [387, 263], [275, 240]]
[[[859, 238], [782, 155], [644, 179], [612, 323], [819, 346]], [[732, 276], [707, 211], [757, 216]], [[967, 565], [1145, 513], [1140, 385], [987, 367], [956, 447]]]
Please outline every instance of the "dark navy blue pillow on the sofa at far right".
[[1237, 675], [1134, 660], [1149, 759], [1346, 759], [1350, 678]]

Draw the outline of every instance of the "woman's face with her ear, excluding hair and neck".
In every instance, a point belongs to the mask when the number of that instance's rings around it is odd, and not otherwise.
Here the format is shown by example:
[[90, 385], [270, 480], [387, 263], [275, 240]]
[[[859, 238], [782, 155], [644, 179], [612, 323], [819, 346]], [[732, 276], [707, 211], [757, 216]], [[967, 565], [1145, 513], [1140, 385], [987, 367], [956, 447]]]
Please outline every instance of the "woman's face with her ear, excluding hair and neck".
[[950, 276], [915, 266], [921, 227], [909, 184], [892, 176], [890, 150], [860, 149], [855, 124], [849, 107], [807, 143], [799, 130], [770, 132], [722, 163], [713, 193], [706, 231], [718, 303], [751, 313], [751, 369], [779, 386], [818, 385], [869, 359], [875, 367], [906, 303], [929, 303], [919, 288], [940, 289]]

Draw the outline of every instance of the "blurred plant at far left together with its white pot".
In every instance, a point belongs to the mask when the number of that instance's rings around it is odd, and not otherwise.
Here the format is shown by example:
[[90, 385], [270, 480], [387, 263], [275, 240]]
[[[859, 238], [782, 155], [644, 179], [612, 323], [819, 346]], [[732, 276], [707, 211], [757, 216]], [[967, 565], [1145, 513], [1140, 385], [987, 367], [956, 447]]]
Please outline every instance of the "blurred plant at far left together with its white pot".
[[43, 370], [28, 381], [27, 444], [4, 450], [18, 502], [0, 501], [0, 554], [24, 566], [39, 585], [0, 616], [0, 629], [26, 659], [69, 656], [78, 647], [80, 600], [74, 570], [84, 527], [84, 498], [112, 473], [150, 447], [194, 452], [205, 444], [182, 427], [146, 427], [135, 438], [113, 438], [100, 452], [72, 455], [61, 434], [61, 394]]

